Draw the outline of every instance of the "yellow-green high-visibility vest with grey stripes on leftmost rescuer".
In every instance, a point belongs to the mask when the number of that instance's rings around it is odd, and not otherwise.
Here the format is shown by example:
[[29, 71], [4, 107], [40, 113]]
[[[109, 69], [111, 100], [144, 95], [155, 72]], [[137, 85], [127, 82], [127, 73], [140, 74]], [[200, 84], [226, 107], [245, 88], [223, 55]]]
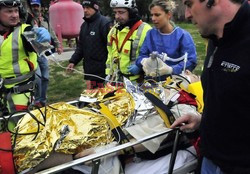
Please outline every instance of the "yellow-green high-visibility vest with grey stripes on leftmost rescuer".
[[27, 26], [22, 24], [14, 28], [1, 45], [0, 76], [6, 88], [31, 78], [37, 67], [36, 53], [29, 52], [27, 55], [23, 47], [21, 34]]

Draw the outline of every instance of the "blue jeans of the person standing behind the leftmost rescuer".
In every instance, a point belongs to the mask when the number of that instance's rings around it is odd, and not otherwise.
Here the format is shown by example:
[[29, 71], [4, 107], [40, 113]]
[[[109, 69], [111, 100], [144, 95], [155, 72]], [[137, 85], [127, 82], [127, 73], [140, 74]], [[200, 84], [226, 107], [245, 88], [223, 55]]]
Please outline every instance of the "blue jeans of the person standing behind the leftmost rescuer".
[[35, 102], [46, 103], [47, 89], [49, 85], [49, 63], [46, 57], [38, 58], [38, 67], [36, 70], [36, 83], [38, 86], [35, 94]]

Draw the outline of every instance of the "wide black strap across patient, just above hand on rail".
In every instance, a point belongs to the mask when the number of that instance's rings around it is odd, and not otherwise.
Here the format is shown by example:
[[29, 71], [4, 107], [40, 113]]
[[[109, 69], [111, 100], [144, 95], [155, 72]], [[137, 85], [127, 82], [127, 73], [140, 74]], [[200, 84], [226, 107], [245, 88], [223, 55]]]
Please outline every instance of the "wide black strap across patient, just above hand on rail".
[[163, 110], [167, 117], [168, 120], [170, 122], [170, 124], [173, 124], [175, 121], [174, 115], [173, 113], [170, 111], [170, 108], [167, 107], [160, 99], [158, 99], [155, 95], [149, 93], [149, 92], [145, 92], [144, 95], [147, 97], [147, 99], [149, 99], [155, 106], [157, 106], [158, 108], [160, 108], [161, 110]]

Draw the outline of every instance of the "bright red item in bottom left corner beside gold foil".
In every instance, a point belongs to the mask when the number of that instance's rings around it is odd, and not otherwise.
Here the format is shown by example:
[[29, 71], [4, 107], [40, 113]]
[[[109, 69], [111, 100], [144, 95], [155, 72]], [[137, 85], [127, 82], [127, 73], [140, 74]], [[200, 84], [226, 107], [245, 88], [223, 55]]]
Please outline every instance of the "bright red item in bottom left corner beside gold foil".
[[11, 151], [11, 137], [9, 132], [0, 133], [0, 173], [15, 174]]

